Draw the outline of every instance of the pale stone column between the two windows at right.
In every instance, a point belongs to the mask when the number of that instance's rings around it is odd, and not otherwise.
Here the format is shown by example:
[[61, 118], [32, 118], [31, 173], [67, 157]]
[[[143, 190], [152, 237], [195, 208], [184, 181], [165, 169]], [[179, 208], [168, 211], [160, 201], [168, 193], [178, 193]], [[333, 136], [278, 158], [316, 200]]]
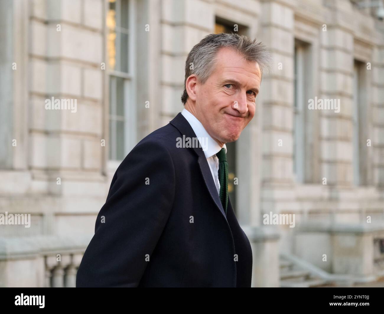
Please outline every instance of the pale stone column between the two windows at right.
[[[321, 175], [327, 185], [353, 184], [353, 20], [348, 3], [327, 1], [321, 29], [320, 95], [340, 102], [340, 112], [319, 110]], [[346, 1], [345, 1], [346, 2]]]

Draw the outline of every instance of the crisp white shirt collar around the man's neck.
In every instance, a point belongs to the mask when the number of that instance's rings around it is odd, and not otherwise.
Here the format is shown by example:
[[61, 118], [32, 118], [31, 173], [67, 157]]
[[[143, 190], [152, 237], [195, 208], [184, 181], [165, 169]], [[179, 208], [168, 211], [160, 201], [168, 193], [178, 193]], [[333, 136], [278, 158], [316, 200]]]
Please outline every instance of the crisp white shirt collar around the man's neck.
[[201, 122], [187, 109], [183, 109], [181, 111], [181, 114], [184, 116], [184, 118], [188, 121], [192, 129], [194, 130], [196, 137], [198, 138], [200, 145], [204, 148], [204, 145], [200, 141], [200, 138], [205, 138], [206, 140], [206, 150], [203, 149], [205, 158], [209, 158], [215, 154], [217, 154], [222, 148], [225, 149], [225, 153], [227, 153], [227, 146], [220, 147], [218, 145], [217, 141], [215, 141], [205, 130]]

